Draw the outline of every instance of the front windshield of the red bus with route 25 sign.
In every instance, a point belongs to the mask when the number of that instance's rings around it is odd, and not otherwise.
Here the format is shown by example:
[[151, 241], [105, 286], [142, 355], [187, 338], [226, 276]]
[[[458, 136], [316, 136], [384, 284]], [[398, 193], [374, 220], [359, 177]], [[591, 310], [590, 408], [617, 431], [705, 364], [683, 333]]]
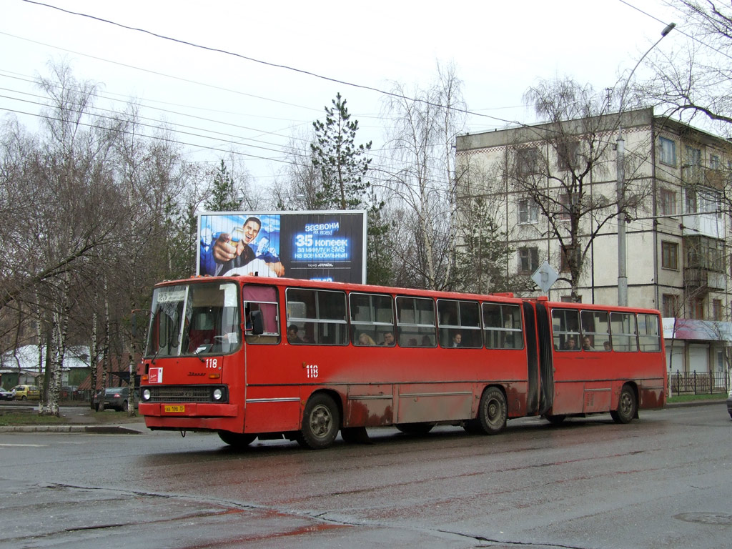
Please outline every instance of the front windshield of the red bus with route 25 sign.
[[228, 354], [242, 342], [236, 284], [156, 288], [146, 356]]

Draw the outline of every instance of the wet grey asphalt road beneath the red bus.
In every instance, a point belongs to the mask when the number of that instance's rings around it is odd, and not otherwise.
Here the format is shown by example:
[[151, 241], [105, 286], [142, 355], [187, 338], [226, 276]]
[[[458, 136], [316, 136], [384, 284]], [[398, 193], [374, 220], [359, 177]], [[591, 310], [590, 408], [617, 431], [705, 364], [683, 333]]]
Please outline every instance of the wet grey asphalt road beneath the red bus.
[[0, 548], [722, 548], [725, 404], [321, 452], [215, 435], [0, 433]]

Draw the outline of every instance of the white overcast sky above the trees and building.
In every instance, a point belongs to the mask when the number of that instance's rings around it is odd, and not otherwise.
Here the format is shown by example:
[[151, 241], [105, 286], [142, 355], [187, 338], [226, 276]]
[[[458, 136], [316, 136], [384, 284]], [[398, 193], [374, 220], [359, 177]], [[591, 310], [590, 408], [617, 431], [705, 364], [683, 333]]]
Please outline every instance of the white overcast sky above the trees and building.
[[[470, 116], [466, 131], [504, 127], [501, 120], [531, 123], [533, 114], [522, 105], [529, 86], [570, 76], [595, 89], [611, 87], [667, 23], [681, 22], [663, 0], [1, 5], [0, 116], [38, 113], [31, 94], [39, 92], [29, 80], [48, 75], [49, 61], [66, 59], [75, 78], [103, 84], [105, 96], [120, 101], [116, 108], [135, 98], [144, 116], [193, 134], [178, 137], [196, 160], [217, 163], [223, 153], [209, 148], [239, 143], [263, 183], [282, 168], [291, 135], [324, 119], [323, 108], [337, 92], [359, 120], [359, 137], [373, 140], [375, 154], [384, 146], [384, 95], [357, 86], [390, 90], [398, 81], [407, 90], [424, 88], [435, 79], [438, 61], [455, 64], [469, 111], [497, 118]], [[672, 32], [658, 47], [671, 49], [681, 39]], [[36, 118], [20, 116], [29, 129], [37, 127]]]

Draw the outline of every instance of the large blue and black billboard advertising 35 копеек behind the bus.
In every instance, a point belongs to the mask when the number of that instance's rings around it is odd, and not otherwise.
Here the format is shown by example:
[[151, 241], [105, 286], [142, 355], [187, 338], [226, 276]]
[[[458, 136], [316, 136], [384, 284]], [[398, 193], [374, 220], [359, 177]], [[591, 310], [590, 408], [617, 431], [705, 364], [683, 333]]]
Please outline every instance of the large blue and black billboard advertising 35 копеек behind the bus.
[[202, 212], [197, 275], [366, 282], [366, 212]]

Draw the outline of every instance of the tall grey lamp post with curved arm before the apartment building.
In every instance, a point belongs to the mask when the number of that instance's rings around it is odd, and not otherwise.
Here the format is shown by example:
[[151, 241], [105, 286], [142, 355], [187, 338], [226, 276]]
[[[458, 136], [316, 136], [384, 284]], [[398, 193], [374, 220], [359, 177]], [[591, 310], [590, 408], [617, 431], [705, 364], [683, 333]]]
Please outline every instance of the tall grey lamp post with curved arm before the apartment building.
[[[673, 30], [676, 23], [670, 23], [665, 29], [661, 31], [661, 37], [656, 40], [654, 45], [648, 48], [646, 53], [643, 53], [641, 59], [638, 59], [638, 63], [635, 64], [633, 70], [630, 71], [630, 75], [625, 81], [623, 90], [620, 94], [620, 112], [618, 114], [618, 140], [616, 143], [616, 196], [618, 199], [618, 305], [621, 307], [627, 307], [628, 305], [628, 276], [627, 276], [627, 256], [626, 256], [626, 235], [625, 235], [625, 224], [627, 223], [625, 217], [625, 141], [623, 140], [623, 102], [625, 100], [625, 92], [628, 89], [630, 78], [633, 73], [641, 64], [643, 59], [651, 53], [651, 50], [655, 48], [658, 43], [663, 40], [669, 32]], [[651, 146], [653, 144], [651, 143]]]

